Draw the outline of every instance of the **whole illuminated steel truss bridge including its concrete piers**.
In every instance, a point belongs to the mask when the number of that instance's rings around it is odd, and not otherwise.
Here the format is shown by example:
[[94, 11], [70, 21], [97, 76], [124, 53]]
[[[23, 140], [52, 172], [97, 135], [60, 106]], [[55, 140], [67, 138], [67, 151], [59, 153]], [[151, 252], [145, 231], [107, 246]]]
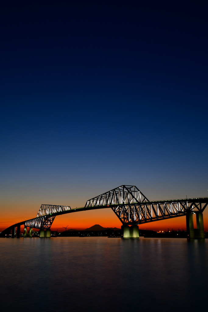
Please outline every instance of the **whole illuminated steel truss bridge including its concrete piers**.
[[[14, 237], [16, 232], [20, 237], [20, 226], [24, 225], [25, 237], [32, 236], [32, 228], [40, 229], [40, 237], [49, 237], [51, 225], [58, 215], [111, 208], [122, 223], [123, 238], [138, 238], [140, 224], [182, 216], [186, 216], [187, 238], [204, 238], [203, 211], [207, 205], [208, 197], [149, 201], [135, 185], [121, 185], [89, 199], [85, 207], [71, 209], [70, 206], [42, 204], [35, 218], [11, 225], [0, 236], [12, 232]], [[193, 214], [196, 214], [196, 229]]]

